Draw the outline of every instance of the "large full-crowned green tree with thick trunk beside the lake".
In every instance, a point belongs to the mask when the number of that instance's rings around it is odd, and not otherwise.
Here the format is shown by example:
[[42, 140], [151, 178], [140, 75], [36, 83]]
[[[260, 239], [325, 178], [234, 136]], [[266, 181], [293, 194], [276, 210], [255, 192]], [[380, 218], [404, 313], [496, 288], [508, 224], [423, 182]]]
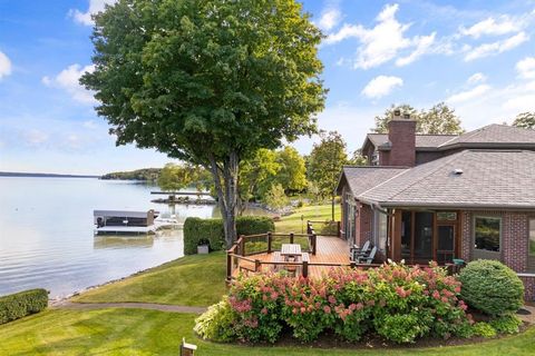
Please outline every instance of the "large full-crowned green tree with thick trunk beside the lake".
[[294, 0], [118, 0], [95, 16], [81, 83], [117, 145], [210, 169], [230, 246], [240, 162], [315, 131], [320, 41]]

